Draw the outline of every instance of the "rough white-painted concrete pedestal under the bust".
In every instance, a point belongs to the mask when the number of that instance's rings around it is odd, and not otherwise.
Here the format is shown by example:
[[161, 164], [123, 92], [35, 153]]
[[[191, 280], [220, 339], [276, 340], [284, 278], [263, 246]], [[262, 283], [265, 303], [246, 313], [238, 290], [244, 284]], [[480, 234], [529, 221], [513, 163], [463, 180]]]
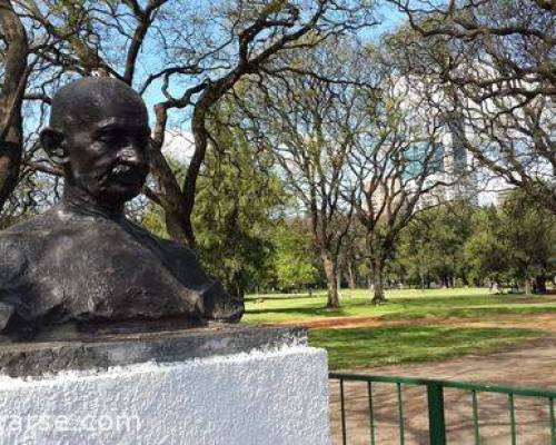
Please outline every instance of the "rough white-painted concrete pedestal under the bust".
[[327, 406], [326, 353], [302, 343], [0, 376], [0, 444], [324, 445]]

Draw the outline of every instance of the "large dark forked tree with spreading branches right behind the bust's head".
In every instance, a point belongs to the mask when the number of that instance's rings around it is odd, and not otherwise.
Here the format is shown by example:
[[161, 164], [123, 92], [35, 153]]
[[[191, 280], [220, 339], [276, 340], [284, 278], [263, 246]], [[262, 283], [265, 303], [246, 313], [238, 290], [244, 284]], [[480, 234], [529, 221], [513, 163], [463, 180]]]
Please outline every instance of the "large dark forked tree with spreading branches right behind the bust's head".
[[[119, 78], [153, 106], [156, 182], [145, 192], [165, 209], [171, 237], [190, 246], [195, 246], [191, 218], [196, 184], [211, 138], [207, 125], [211, 109], [246, 76], [265, 71], [269, 65], [288, 69], [288, 58], [278, 56], [316, 47], [373, 22], [364, 1], [17, 3], [29, 27], [56, 42], [41, 52], [44, 63], [78, 76]], [[31, 88], [28, 97], [48, 103], [53, 89]], [[178, 180], [161, 149], [168, 128], [185, 121], [195, 146], [185, 178]], [[33, 168], [57, 172], [43, 161], [39, 154]]]

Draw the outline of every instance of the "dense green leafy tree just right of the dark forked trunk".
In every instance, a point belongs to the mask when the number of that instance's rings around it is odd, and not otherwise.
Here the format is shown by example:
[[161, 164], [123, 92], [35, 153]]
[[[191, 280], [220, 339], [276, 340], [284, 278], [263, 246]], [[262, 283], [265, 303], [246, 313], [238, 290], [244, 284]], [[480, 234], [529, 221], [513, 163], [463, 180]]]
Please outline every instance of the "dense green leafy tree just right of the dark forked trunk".
[[215, 126], [212, 138], [196, 194], [198, 250], [209, 274], [244, 295], [272, 273], [270, 234], [284, 190], [240, 129]]

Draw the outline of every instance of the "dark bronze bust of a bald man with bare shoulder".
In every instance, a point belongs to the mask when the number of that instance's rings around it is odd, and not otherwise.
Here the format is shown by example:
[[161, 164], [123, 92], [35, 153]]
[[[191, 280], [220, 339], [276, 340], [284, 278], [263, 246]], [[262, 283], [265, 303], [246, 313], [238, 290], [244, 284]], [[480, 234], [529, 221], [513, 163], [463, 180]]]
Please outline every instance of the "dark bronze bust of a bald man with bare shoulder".
[[64, 171], [61, 202], [0, 233], [0, 334], [153, 320], [237, 322], [242, 303], [195, 254], [123, 215], [149, 172], [141, 97], [83, 78], [52, 100], [44, 150]]

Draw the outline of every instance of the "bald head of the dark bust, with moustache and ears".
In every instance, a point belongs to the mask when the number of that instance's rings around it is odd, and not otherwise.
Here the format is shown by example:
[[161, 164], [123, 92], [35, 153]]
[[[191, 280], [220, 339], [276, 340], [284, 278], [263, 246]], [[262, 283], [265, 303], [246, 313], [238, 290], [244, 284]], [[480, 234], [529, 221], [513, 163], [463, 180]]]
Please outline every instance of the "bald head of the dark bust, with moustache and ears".
[[121, 212], [149, 172], [149, 122], [141, 97], [112, 78], [83, 78], [52, 100], [40, 140], [63, 168], [64, 197]]

